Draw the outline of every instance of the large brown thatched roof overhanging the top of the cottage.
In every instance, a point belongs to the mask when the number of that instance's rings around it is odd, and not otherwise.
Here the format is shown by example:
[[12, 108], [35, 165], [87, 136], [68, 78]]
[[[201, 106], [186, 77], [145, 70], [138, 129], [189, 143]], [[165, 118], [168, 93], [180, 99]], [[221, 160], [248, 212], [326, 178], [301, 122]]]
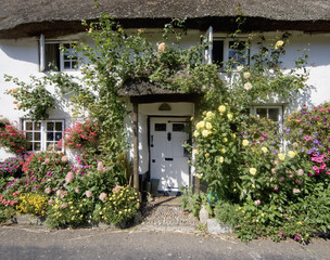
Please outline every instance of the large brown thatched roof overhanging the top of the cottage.
[[[249, 17], [246, 29], [330, 30], [329, 0], [10, 0], [1, 1], [0, 38], [56, 36], [81, 31], [81, 20], [110, 13], [128, 27], [162, 27], [172, 17], [187, 17], [201, 28], [211, 23], [224, 29], [233, 23], [237, 4]], [[248, 23], [246, 23], [248, 24]], [[62, 32], [60, 32], [62, 31]]]

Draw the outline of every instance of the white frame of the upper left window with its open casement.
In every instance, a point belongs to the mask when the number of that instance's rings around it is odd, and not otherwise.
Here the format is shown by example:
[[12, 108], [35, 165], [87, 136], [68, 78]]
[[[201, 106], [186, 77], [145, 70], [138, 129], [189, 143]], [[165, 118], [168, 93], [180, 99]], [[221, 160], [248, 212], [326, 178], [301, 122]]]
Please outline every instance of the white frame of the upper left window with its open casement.
[[[78, 67], [77, 68], [73, 67], [72, 63], [75, 62], [78, 65], [78, 54], [76, 55], [75, 58], [71, 57], [68, 60], [65, 60], [65, 53], [63, 53], [61, 51], [61, 48], [64, 48], [64, 44], [72, 46], [72, 44], [74, 44], [74, 42], [77, 42], [77, 40], [46, 40], [45, 36], [41, 35], [40, 40], [39, 40], [39, 70], [42, 73], [52, 70], [52, 69], [47, 69], [48, 64], [46, 64], [47, 63], [46, 46], [47, 44], [59, 44], [59, 60], [60, 60], [59, 65], [60, 65], [60, 67], [54, 72], [76, 72]], [[71, 63], [69, 68], [64, 67], [64, 63], [67, 61]]]

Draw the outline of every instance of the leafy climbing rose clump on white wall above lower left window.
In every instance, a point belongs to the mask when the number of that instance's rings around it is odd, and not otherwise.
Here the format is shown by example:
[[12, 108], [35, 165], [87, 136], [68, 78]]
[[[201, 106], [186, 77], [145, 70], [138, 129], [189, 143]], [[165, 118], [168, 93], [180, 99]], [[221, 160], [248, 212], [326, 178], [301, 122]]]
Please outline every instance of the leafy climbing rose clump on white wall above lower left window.
[[5, 81], [11, 81], [17, 86], [16, 89], [8, 91], [8, 94], [15, 98], [15, 109], [27, 112], [27, 116], [34, 120], [47, 119], [49, 117], [47, 109], [54, 108], [55, 100], [46, 89], [49, 82], [47, 77], [41, 79], [30, 77], [30, 83], [20, 81], [17, 78], [8, 75], [4, 78]]

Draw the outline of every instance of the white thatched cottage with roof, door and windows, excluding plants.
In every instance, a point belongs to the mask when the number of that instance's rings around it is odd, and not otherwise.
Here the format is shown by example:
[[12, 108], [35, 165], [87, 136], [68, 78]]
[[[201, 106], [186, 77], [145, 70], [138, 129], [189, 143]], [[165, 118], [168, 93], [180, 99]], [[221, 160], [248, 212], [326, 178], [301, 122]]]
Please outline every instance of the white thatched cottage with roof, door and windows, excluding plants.
[[[24, 2], [24, 3], [23, 3]], [[5, 82], [3, 75], [29, 81], [30, 75], [42, 77], [53, 62], [61, 70], [79, 75], [74, 69], [75, 57], [59, 51], [60, 47], [71, 49], [72, 40], [88, 43], [81, 20], [96, 20], [100, 11], [109, 12], [125, 28], [135, 31], [145, 28], [145, 35], [156, 43], [161, 28], [170, 17], [187, 17], [188, 34], [183, 46], [200, 43], [200, 35], [212, 42], [207, 62], [226, 62], [230, 57], [229, 31], [234, 30], [237, 4], [239, 1], [99, 1], [100, 9], [93, 10], [88, 1], [10, 1], [0, 11], [0, 115], [15, 122], [26, 131], [31, 151], [42, 151], [63, 136], [66, 127], [72, 126], [69, 107], [59, 103], [50, 110], [50, 118], [33, 122], [16, 109], [14, 100], [4, 92], [14, 89]], [[301, 107], [315, 106], [330, 100], [330, 3], [327, 0], [277, 0], [271, 5], [265, 1], [243, 1], [241, 9], [246, 16], [242, 40], [249, 34], [255, 35], [250, 55], [257, 52], [257, 36], [263, 35], [275, 42], [283, 32], [289, 32], [290, 46], [283, 65], [294, 67], [297, 50], [309, 55], [307, 69], [310, 91], [295, 101], [275, 99], [268, 104], [253, 104], [252, 113], [281, 121], [285, 113]], [[188, 160], [190, 155], [181, 146], [189, 140], [189, 118], [196, 113], [198, 95], [157, 92], [148, 82], [136, 82], [129, 90], [123, 90], [131, 117], [127, 129], [131, 142], [130, 157], [137, 158], [136, 171], [148, 179], [158, 179], [158, 190], [177, 192], [179, 186], [193, 183], [193, 171]], [[134, 89], [136, 88], [136, 89]], [[50, 88], [50, 91], [51, 88]], [[126, 92], [125, 92], [126, 91]], [[136, 130], [134, 122], [136, 122]], [[134, 139], [134, 135], [137, 139]], [[136, 140], [137, 143], [134, 143]], [[0, 160], [11, 156], [0, 150]]]

